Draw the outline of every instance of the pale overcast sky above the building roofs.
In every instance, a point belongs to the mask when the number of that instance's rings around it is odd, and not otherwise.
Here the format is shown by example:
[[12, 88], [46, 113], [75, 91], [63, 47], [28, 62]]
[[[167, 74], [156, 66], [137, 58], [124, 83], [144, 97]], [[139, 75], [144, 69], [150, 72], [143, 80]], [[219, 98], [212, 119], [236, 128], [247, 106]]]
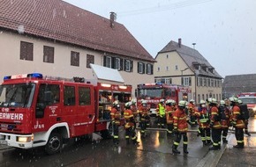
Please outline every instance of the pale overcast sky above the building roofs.
[[256, 74], [256, 0], [64, 0], [117, 22], [153, 57], [182, 39], [222, 76]]

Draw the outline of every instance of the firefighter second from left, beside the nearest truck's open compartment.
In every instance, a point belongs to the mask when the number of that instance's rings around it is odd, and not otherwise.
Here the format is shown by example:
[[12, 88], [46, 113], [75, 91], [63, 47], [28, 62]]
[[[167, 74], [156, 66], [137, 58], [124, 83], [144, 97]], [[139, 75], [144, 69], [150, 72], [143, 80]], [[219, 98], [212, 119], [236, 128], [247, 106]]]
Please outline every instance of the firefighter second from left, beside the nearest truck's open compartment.
[[137, 136], [134, 128], [134, 116], [131, 110], [132, 102], [125, 103], [124, 119], [125, 119], [125, 140], [126, 144], [130, 144], [130, 138], [134, 145], [138, 144]]

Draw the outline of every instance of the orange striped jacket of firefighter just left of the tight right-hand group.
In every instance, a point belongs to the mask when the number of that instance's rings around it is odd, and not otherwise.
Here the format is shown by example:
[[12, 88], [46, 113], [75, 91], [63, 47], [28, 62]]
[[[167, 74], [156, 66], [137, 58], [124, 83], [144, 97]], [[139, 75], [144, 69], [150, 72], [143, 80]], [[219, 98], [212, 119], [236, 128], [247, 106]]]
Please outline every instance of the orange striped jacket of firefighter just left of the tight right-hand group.
[[195, 115], [198, 119], [200, 128], [209, 128], [210, 118], [207, 107], [199, 107], [199, 109], [195, 111]]

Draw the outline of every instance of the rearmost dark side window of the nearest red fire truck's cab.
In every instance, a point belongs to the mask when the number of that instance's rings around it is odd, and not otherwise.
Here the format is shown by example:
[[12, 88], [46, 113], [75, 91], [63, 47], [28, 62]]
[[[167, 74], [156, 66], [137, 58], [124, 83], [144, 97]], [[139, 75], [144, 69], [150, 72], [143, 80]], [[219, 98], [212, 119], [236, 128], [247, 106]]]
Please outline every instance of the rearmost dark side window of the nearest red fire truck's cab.
[[91, 105], [91, 89], [79, 87], [79, 105]]

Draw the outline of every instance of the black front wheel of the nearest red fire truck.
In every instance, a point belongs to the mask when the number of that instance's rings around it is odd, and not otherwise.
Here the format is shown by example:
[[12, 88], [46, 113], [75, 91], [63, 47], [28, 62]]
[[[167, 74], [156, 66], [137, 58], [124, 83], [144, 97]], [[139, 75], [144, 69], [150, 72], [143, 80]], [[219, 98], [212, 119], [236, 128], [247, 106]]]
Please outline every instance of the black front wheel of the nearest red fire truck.
[[45, 151], [47, 154], [56, 154], [62, 148], [63, 141], [60, 134], [51, 133], [49, 135], [49, 140], [45, 146]]

